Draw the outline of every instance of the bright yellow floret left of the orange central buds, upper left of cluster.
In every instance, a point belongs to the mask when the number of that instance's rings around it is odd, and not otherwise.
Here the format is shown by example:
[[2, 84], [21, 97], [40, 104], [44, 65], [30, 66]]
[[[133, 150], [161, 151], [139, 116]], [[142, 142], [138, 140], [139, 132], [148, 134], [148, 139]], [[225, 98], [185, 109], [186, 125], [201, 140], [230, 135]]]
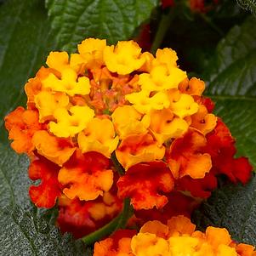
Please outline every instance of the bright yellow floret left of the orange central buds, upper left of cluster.
[[70, 96], [75, 94], [87, 95], [90, 92], [90, 82], [88, 77], [78, 77], [77, 72], [71, 68], [61, 71], [59, 79], [53, 73], [49, 74], [42, 81], [43, 88], [51, 88], [56, 92], [63, 92]]

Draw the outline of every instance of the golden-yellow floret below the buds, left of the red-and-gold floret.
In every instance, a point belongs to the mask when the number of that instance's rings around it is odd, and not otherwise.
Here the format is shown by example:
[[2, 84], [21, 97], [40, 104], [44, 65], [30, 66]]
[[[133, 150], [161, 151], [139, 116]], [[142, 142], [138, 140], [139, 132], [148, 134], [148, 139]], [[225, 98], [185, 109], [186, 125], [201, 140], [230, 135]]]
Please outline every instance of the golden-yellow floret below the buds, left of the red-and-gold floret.
[[115, 137], [115, 129], [109, 119], [95, 117], [88, 122], [87, 128], [78, 134], [77, 142], [82, 153], [96, 151], [106, 157], [117, 149], [118, 136]]

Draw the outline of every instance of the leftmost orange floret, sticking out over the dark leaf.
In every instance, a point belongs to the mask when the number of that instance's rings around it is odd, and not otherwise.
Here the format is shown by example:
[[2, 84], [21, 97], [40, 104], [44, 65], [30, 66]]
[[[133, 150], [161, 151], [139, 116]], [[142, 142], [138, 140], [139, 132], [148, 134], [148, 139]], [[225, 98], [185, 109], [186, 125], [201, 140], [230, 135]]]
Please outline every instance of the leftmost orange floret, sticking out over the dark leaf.
[[32, 137], [43, 128], [38, 119], [37, 111], [25, 110], [22, 106], [17, 107], [5, 117], [5, 127], [9, 131], [9, 139], [14, 139], [11, 143], [14, 151], [31, 154], [31, 151], [35, 149]]

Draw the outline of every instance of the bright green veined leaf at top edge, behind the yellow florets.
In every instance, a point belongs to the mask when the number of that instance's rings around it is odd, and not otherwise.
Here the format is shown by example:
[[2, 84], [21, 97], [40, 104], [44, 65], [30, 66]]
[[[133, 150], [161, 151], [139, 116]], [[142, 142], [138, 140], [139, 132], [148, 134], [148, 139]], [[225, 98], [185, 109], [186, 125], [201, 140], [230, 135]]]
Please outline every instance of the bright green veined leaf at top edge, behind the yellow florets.
[[127, 40], [151, 15], [157, 0], [47, 0], [48, 14], [57, 34], [58, 47], [76, 50], [86, 37], [109, 43]]

